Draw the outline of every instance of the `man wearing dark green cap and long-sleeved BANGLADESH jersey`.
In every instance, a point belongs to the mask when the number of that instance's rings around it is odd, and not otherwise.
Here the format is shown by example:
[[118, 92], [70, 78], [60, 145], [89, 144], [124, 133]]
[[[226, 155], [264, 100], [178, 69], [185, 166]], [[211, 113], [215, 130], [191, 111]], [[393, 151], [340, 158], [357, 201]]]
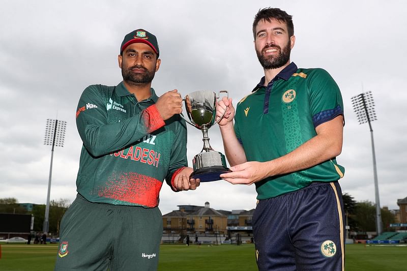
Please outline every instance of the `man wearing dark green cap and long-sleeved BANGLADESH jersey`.
[[199, 186], [189, 179], [181, 96], [151, 87], [158, 57], [153, 34], [129, 33], [118, 56], [123, 81], [80, 97], [78, 194], [61, 222], [55, 270], [156, 270], [163, 180], [173, 191]]

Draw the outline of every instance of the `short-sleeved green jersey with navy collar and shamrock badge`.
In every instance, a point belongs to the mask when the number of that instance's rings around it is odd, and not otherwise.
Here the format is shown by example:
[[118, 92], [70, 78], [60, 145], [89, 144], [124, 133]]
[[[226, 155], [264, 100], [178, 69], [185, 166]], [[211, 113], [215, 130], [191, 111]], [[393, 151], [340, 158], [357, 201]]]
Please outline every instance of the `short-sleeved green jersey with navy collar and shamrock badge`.
[[[298, 69], [294, 63], [237, 105], [235, 131], [247, 161], [270, 161], [292, 152], [316, 136], [315, 127], [343, 115], [339, 87], [323, 69]], [[312, 182], [333, 182], [343, 176], [336, 159], [256, 183], [257, 199], [299, 190]]]

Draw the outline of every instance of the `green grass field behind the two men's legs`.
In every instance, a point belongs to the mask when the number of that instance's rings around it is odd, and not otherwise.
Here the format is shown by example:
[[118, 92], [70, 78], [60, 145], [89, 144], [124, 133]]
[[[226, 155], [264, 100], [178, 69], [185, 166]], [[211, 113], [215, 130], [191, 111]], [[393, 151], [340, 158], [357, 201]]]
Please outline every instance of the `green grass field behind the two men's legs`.
[[[53, 270], [57, 245], [2, 244], [1, 271]], [[162, 245], [159, 271], [251, 271], [257, 270], [254, 246]], [[346, 245], [347, 271], [407, 270], [407, 247]]]

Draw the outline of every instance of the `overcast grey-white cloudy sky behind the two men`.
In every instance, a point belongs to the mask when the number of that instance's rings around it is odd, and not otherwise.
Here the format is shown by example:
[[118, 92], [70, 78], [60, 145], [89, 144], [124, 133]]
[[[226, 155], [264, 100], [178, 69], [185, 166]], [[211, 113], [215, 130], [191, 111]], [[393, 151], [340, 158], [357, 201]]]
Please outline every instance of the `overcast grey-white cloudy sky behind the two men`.
[[[164, 4], [165, 3], [165, 4]], [[51, 199], [75, 198], [81, 140], [75, 125], [79, 96], [90, 84], [117, 85], [123, 37], [136, 28], [156, 34], [162, 64], [153, 87], [158, 95], [226, 89], [234, 101], [263, 76], [251, 32], [260, 8], [293, 15], [296, 45], [291, 60], [329, 71], [342, 91], [345, 167], [343, 192], [374, 202], [370, 132], [359, 125], [351, 98], [371, 91], [380, 203], [391, 209], [407, 197], [407, 25], [404, 1], [21, 1], [2, 0], [0, 11], [0, 198], [46, 202], [50, 146], [43, 145], [47, 118], [66, 121], [64, 147], [55, 147]], [[211, 145], [223, 151], [217, 126]], [[188, 161], [202, 148], [201, 132], [188, 127]], [[191, 166], [191, 164], [190, 164]], [[215, 209], [255, 207], [254, 186], [224, 181], [196, 191], [161, 190], [162, 213], [179, 204]]]

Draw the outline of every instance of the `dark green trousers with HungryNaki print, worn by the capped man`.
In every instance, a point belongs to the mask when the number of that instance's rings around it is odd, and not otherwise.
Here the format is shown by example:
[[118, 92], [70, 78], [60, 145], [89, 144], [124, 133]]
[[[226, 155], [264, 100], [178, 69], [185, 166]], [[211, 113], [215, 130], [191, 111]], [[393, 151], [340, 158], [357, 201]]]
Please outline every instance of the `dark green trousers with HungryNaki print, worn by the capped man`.
[[158, 207], [92, 203], [77, 195], [61, 221], [55, 270], [157, 270]]

